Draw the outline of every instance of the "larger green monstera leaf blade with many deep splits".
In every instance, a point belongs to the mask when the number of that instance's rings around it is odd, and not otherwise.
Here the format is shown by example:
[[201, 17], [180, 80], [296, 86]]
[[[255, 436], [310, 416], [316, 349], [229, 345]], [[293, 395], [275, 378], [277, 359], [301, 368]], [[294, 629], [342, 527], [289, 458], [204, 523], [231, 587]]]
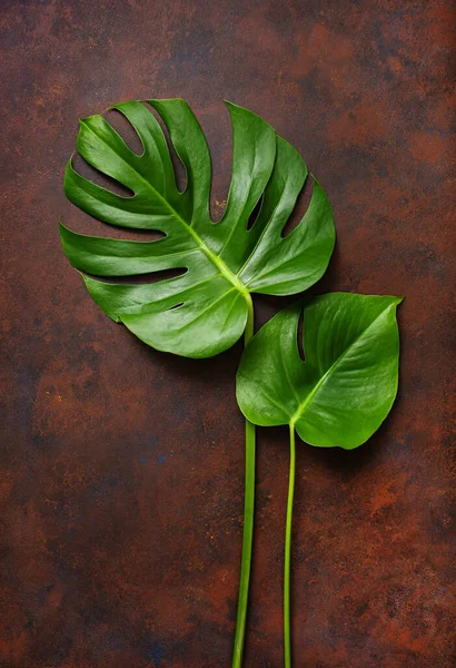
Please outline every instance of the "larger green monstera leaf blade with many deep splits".
[[[158, 230], [152, 242], [60, 234], [70, 263], [83, 272], [93, 299], [147, 344], [189, 357], [230, 347], [242, 334], [250, 293], [295, 294], [324, 274], [335, 243], [331, 208], [316, 179], [309, 207], [282, 230], [307, 179], [298, 153], [255, 114], [228, 104], [234, 131], [232, 177], [220, 222], [209, 216], [211, 165], [206, 138], [180, 99], [150, 100], [186, 168], [184, 191], [161, 127], [138, 101], [116, 105], [141, 140], [135, 154], [102, 116], [80, 121], [77, 149], [97, 170], [132, 191], [121, 197], [78, 174], [65, 176], [68, 198], [86, 213], [120, 227]], [[262, 198], [252, 225], [250, 216]], [[185, 269], [147, 284], [100, 281]], [[161, 279], [160, 279], [161, 278]]]

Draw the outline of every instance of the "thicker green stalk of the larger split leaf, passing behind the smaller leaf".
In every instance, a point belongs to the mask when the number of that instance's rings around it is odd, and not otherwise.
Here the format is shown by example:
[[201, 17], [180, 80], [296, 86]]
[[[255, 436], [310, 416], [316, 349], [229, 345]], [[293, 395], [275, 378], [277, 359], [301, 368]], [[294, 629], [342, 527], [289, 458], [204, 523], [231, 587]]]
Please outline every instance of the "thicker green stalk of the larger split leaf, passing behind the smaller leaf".
[[[247, 299], [248, 316], [244, 343], [247, 346], [254, 336], [254, 304], [250, 295]], [[250, 581], [251, 546], [254, 539], [255, 508], [255, 424], [246, 420], [246, 473], [244, 499], [244, 538], [242, 557], [240, 562], [240, 582], [238, 597], [238, 613], [236, 619], [235, 647], [232, 650], [231, 668], [241, 668], [244, 644], [246, 640], [247, 605]]]

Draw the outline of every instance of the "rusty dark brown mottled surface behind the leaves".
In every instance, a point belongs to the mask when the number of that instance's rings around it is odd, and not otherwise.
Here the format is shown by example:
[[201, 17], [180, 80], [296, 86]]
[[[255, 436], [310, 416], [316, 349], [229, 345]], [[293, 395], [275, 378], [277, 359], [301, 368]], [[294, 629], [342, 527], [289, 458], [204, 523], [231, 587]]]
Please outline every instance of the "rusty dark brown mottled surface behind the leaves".
[[[316, 291], [406, 295], [386, 424], [351, 453], [299, 446], [295, 666], [454, 666], [450, 3], [2, 0], [0, 20], [1, 668], [230, 664], [240, 345], [147, 348], [91, 302], [57, 232], [59, 215], [97, 226], [61, 189], [77, 118], [172, 96], [208, 134], [216, 210], [228, 98], [329, 194], [338, 245]], [[278, 302], [256, 305], [259, 325]], [[260, 430], [246, 668], [282, 665], [287, 460], [286, 430]]]

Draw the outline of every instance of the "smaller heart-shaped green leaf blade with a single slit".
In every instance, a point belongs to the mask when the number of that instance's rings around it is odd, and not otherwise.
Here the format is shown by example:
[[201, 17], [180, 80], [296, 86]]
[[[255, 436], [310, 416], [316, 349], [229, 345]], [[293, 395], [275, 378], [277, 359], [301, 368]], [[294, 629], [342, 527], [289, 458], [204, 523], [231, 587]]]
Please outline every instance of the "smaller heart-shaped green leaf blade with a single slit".
[[244, 352], [237, 399], [260, 425], [291, 424], [310, 445], [357, 448], [379, 428], [397, 392], [399, 297], [331, 293], [274, 316]]

